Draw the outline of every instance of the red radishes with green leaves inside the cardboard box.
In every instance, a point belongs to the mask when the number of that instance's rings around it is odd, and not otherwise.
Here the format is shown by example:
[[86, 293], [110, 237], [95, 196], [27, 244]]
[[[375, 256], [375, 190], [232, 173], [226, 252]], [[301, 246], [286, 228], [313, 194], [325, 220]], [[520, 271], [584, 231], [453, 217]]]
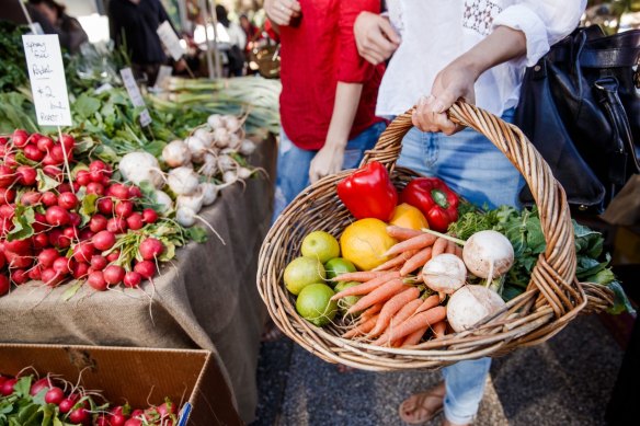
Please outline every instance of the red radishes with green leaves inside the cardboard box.
[[[23, 371], [28, 371], [25, 369]], [[159, 405], [134, 408], [116, 405], [100, 391], [64, 378], [34, 373], [0, 373], [0, 424], [8, 426], [173, 426], [178, 406], [165, 399]]]

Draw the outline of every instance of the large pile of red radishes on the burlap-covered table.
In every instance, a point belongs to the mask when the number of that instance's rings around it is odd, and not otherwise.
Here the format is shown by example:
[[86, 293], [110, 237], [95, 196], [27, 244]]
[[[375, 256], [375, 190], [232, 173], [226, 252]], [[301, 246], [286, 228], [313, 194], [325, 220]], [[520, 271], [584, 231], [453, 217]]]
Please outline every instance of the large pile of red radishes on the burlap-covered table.
[[105, 290], [121, 283], [137, 287], [157, 272], [159, 240], [138, 238], [135, 262], [122, 255], [125, 246], [118, 243], [128, 232], [144, 235], [157, 212], [140, 208], [139, 187], [113, 182], [111, 166], [100, 160], [77, 165], [69, 181], [64, 171], [70, 170], [75, 145], [69, 135], [54, 141], [24, 130], [0, 138], [0, 269], [7, 270], [0, 274], [0, 296], [10, 281], [39, 279], [56, 287], [75, 278]]

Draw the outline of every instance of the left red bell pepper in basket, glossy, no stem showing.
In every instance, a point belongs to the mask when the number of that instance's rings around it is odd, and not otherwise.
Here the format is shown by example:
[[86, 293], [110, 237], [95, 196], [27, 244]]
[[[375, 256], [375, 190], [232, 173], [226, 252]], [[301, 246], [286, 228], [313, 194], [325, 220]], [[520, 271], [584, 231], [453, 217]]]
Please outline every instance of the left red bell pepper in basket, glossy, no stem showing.
[[372, 161], [338, 183], [338, 196], [356, 219], [391, 219], [398, 192], [382, 164]]

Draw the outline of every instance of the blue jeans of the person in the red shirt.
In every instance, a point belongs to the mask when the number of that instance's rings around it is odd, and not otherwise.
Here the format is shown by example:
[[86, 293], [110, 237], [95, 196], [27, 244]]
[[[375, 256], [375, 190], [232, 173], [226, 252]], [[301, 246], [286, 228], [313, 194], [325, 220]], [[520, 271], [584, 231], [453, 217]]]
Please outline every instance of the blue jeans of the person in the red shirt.
[[[387, 125], [384, 122], [367, 127], [358, 136], [346, 143], [342, 169], [355, 169], [362, 161], [366, 150], [374, 148], [378, 137]], [[275, 222], [279, 214], [309, 186], [309, 168], [317, 150], [298, 148], [281, 128], [281, 140], [277, 152], [277, 172], [275, 184], [275, 200], [271, 222]]]

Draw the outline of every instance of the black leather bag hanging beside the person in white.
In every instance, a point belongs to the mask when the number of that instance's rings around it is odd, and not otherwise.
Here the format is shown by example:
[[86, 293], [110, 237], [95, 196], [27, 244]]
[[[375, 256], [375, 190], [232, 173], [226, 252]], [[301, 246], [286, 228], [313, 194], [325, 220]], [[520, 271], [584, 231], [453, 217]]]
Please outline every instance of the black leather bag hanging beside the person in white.
[[[581, 27], [525, 72], [514, 124], [573, 208], [602, 212], [640, 173], [640, 31]], [[521, 193], [532, 204], [528, 187]]]

